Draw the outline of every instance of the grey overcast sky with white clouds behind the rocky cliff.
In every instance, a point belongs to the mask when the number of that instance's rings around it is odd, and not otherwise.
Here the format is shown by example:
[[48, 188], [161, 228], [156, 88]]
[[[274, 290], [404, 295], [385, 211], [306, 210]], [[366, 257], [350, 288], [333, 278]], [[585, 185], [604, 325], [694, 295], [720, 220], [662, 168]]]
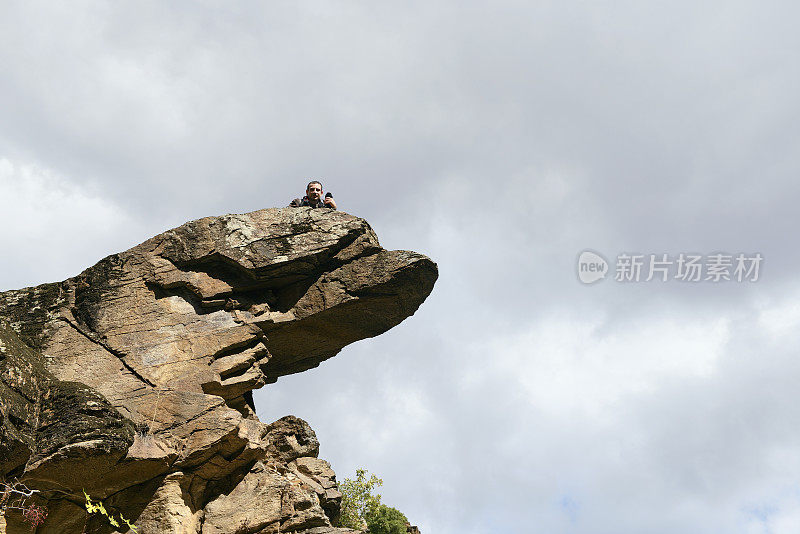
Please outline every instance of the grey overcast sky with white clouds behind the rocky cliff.
[[[378, 474], [424, 534], [796, 533], [799, 17], [3, 2], [0, 290], [318, 177], [440, 270], [399, 327], [256, 395], [340, 479]], [[610, 269], [591, 285], [586, 249]], [[763, 261], [615, 280], [621, 254], [681, 253]]]

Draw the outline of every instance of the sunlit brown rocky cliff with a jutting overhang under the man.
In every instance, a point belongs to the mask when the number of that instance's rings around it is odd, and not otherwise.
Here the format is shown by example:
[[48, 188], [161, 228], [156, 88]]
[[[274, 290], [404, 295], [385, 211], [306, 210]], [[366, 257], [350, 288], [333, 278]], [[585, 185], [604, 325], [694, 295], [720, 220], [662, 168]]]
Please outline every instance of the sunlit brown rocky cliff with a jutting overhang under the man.
[[260, 422], [252, 390], [397, 325], [436, 277], [362, 219], [284, 208], [0, 293], [0, 477], [40, 491], [38, 532], [111, 532], [83, 490], [139, 533], [347, 532], [313, 430]]

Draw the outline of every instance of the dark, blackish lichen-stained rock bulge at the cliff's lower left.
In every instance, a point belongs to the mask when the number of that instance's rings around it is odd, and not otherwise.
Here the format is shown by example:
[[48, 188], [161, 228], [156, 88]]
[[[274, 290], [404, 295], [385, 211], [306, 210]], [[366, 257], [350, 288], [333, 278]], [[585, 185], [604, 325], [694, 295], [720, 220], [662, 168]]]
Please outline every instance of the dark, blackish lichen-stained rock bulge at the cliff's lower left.
[[24, 470], [40, 489], [80, 478], [97, 491], [134, 441], [133, 423], [80, 382], [50, 373], [40, 354], [0, 324], [0, 473]]

